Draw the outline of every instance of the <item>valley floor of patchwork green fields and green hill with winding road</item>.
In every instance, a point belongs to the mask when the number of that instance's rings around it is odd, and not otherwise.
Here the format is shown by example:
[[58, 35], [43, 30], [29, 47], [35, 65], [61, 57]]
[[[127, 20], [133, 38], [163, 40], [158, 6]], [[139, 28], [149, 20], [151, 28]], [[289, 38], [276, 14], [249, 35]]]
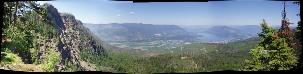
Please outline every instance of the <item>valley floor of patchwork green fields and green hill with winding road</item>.
[[[122, 43], [122, 44], [115, 44], [114, 46], [120, 46], [120, 47], [124, 46], [125, 48], [129, 48], [129, 49], [134, 48], [134, 49], [144, 49], [144, 50], [148, 49], [148, 50], [167, 51], [167, 52], [171, 52], [171, 53], [183, 53], [183, 52], [207, 53], [207, 52], [212, 52], [212, 51], [221, 51], [221, 50], [219, 50], [219, 49], [221, 49], [219, 47], [222, 47], [222, 46], [233, 47], [238, 50], [250, 49], [260, 42], [261, 41], [242, 41], [242, 42], [234, 42], [234, 43], [228, 43], [228, 44], [192, 43], [189, 45], [184, 45], [183, 43], [164, 44], [165, 42], [154, 41], [154, 42], [140, 42], [140, 43], [134, 43], [134, 44]], [[148, 45], [149, 43], [154, 43], [154, 44], [161, 43], [164, 45], [142, 46], [142, 45]], [[182, 48], [182, 50], [181, 50], [181, 48]]]

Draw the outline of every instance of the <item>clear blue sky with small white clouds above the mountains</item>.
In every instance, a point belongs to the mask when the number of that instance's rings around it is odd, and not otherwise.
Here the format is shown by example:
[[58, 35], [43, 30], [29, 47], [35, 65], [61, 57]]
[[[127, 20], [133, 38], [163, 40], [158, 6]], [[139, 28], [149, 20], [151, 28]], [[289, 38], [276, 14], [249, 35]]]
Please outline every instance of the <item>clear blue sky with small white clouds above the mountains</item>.
[[[83, 23], [143, 23], [175, 25], [280, 25], [282, 1], [149, 2], [131, 1], [38, 1], [59, 12], [71, 13]], [[297, 24], [298, 4], [287, 1], [287, 18]]]

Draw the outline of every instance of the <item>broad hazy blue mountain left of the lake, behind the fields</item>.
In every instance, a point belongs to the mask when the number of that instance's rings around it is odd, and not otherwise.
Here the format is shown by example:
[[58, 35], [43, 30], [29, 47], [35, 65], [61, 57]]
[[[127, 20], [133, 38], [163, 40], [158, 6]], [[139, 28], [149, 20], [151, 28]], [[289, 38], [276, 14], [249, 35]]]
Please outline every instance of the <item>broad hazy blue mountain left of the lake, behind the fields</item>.
[[[177, 25], [153, 25], [142, 23], [110, 23], [110, 24], [88, 24], [83, 26], [89, 28], [100, 39], [107, 42], [138, 42], [153, 41], [156, 39], [174, 39], [176, 35], [190, 35], [190, 32]], [[172, 38], [169, 38], [172, 37]], [[195, 37], [195, 36], [186, 36]], [[178, 37], [180, 39], [180, 37]]]

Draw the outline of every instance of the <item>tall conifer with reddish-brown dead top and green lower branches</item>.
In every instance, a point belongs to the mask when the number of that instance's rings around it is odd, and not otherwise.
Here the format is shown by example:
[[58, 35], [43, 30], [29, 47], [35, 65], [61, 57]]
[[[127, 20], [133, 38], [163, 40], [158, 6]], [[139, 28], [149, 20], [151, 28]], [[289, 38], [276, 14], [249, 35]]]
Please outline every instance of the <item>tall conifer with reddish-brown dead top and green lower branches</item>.
[[286, 70], [292, 69], [292, 66], [297, 66], [298, 57], [295, 57], [291, 51], [294, 51], [291, 48], [290, 40], [291, 38], [291, 29], [288, 27], [290, 24], [288, 19], [286, 18], [286, 1], [284, 2], [284, 9], [282, 11], [282, 21], [281, 21], [281, 29], [279, 29], [278, 33], [274, 35], [274, 41], [270, 44], [275, 47], [270, 51], [270, 55], [272, 56], [271, 61], [269, 62], [269, 66], [271, 70]]

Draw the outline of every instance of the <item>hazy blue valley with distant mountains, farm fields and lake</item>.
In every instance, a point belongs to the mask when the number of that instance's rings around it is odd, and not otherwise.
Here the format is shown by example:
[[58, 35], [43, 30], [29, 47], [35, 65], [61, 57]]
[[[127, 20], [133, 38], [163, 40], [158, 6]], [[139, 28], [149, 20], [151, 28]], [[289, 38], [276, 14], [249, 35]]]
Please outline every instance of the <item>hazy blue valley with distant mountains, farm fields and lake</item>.
[[257, 25], [182, 26], [142, 23], [83, 23], [83, 26], [106, 43], [134, 50], [171, 49], [197, 42], [239, 42], [258, 37], [257, 33], [262, 31], [262, 27]]

